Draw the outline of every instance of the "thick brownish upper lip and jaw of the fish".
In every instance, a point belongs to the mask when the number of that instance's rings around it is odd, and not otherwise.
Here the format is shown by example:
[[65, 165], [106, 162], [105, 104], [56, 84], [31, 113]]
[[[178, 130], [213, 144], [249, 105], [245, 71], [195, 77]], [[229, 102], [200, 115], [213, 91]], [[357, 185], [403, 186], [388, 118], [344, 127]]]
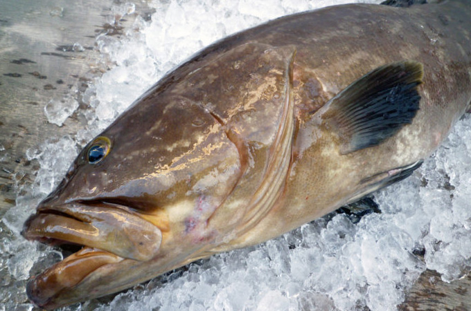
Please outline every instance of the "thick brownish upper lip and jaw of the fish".
[[137, 261], [157, 254], [162, 239], [157, 226], [117, 205], [95, 202], [39, 205], [21, 234], [28, 240], [84, 245]]

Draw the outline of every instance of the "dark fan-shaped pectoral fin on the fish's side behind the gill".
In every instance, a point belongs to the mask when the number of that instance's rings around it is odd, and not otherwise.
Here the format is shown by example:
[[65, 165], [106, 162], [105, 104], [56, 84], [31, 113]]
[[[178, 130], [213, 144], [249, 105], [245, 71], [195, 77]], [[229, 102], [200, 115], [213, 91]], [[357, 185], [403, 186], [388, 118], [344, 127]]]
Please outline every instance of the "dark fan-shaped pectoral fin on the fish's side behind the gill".
[[381, 66], [320, 109], [328, 129], [339, 134], [341, 153], [376, 146], [410, 124], [419, 109], [417, 87], [422, 78], [423, 66], [418, 62]]

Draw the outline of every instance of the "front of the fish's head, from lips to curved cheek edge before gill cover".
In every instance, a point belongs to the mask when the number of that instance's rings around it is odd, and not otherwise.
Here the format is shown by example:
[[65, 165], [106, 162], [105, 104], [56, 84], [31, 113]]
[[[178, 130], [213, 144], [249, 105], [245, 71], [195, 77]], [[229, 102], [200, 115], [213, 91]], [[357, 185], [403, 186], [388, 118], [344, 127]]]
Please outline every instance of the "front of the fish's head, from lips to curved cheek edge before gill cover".
[[26, 221], [30, 240], [83, 246], [30, 281], [30, 299], [57, 308], [204, 256], [208, 219], [240, 178], [229, 136], [181, 96], [150, 95], [118, 117]]

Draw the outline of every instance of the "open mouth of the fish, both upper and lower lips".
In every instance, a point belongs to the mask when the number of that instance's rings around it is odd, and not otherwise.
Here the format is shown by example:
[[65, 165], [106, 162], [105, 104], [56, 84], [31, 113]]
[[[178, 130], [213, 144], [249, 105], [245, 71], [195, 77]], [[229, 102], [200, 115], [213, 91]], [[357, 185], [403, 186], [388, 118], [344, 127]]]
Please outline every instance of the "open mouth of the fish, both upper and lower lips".
[[161, 230], [154, 224], [123, 207], [96, 202], [39, 205], [21, 234], [48, 245], [82, 247], [28, 282], [28, 298], [46, 309], [101, 296], [87, 297], [75, 289], [86, 279], [99, 280], [99, 274], [110, 274], [121, 265], [150, 261], [162, 241]]

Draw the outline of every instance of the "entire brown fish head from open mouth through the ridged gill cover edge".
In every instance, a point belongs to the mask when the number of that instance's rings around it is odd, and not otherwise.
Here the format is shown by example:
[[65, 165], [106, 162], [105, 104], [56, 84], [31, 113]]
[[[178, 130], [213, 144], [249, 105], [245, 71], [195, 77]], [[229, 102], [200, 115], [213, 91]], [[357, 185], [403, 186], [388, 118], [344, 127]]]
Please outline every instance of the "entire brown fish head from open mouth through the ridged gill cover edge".
[[57, 308], [246, 245], [231, 241], [283, 192], [294, 54], [242, 44], [195, 57], [89, 142], [23, 232], [83, 248], [30, 281], [30, 299]]

